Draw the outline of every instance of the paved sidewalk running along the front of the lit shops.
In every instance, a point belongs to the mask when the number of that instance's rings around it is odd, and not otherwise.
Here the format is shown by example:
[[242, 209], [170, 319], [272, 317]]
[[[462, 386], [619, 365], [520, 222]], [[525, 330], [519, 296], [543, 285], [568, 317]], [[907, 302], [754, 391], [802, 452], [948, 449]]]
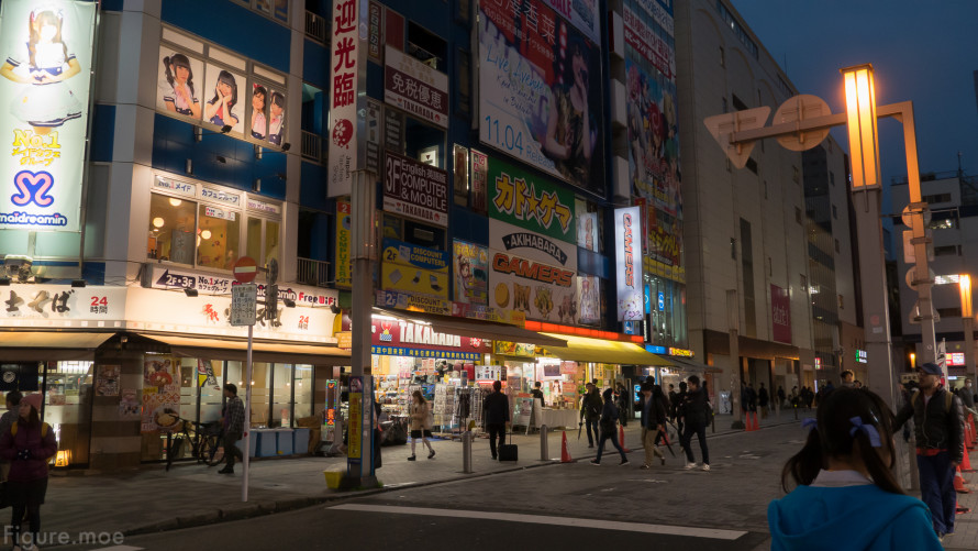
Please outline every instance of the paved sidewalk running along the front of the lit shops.
[[[782, 412], [781, 417], [782, 420], [777, 422], [794, 422], [788, 414]], [[708, 437], [743, 432], [730, 430], [730, 416], [718, 416], [716, 432], [708, 429]], [[766, 421], [763, 427], [776, 422], [773, 418]], [[625, 428], [625, 445], [633, 451], [630, 459], [635, 464], [642, 461], [640, 430], [637, 420]], [[70, 533], [121, 531], [125, 535], [171, 530], [305, 507], [352, 495], [532, 469], [560, 461], [562, 436], [560, 431], [549, 433], [551, 460], [541, 461], [540, 434], [513, 434], [512, 441], [520, 451], [520, 461], [515, 463], [492, 461], [488, 440], [476, 439], [473, 443], [473, 474], [463, 473], [463, 447], [458, 441], [433, 441], [435, 458], [427, 460], [427, 454], [419, 449], [414, 462], [407, 461], [410, 444], [385, 447], [381, 450], [382, 467], [377, 471], [382, 488], [359, 492], [326, 488], [322, 472], [345, 470], [346, 458], [296, 456], [253, 461], [247, 503], [241, 500], [241, 464], [231, 476], [218, 474], [220, 467], [195, 463], [175, 464], [168, 473], [162, 465], [147, 465], [118, 474], [55, 474], [48, 485], [47, 503], [42, 508], [42, 529]], [[575, 461], [590, 460], [597, 453], [596, 449], [588, 448], [586, 433], [578, 440], [577, 431], [567, 431], [567, 443]], [[685, 460], [678, 442], [673, 443], [673, 449], [677, 458], [666, 452], [667, 462], [681, 464]], [[0, 513], [0, 518], [3, 515], [9, 515], [9, 509]]]

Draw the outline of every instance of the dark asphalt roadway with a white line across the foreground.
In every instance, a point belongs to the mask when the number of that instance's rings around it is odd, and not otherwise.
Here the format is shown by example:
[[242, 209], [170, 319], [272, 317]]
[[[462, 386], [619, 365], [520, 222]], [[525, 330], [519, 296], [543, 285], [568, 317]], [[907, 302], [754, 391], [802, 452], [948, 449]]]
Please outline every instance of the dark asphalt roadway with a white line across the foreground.
[[[634, 441], [634, 440], [633, 440]], [[640, 470], [641, 452], [619, 466], [581, 456], [492, 475], [393, 486], [382, 493], [246, 520], [124, 538], [124, 547], [59, 549], [470, 549], [532, 542], [540, 549], [664, 544], [670, 549], [755, 550], [769, 547], [767, 504], [779, 497], [780, 469], [802, 442], [798, 423], [709, 438], [711, 471]], [[456, 444], [457, 445], [457, 444]], [[529, 448], [529, 447], [527, 447]], [[678, 452], [678, 447], [676, 447]], [[523, 451], [523, 448], [521, 448]], [[530, 450], [526, 450], [530, 451]], [[693, 452], [700, 458], [699, 447]], [[387, 460], [386, 460], [387, 461]], [[390, 461], [394, 461], [391, 459]], [[405, 462], [407, 463], [407, 462]], [[382, 470], [381, 470], [382, 471]], [[455, 473], [445, 473], [454, 477]], [[968, 507], [973, 494], [962, 496]], [[948, 549], [978, 549], [974, 514], [958, 517]], [[54, 529], [48, 525], [48, 528]]]

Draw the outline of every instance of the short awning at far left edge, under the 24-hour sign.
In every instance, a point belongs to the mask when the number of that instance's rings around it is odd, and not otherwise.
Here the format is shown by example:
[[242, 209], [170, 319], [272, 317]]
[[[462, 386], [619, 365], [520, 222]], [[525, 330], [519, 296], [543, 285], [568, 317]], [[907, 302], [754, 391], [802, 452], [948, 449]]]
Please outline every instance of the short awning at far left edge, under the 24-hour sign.
[[112, 332], [0, 331], [0, 361], [90, 361]]

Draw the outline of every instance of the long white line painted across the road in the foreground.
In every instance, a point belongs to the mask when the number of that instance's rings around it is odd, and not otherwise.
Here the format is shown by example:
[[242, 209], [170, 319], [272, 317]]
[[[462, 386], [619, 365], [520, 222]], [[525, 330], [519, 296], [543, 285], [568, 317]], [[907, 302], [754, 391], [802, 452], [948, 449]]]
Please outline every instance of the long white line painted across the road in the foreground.
[[714, 540], [735, 540], [746, 535], [741, 530], [721, 530], [689, 526], [647, 525], [643, 522], [621, 522], [576, 517], [553, 517], [545, 515], [516, 515], [512, 513], [490, 513], [481, 510], [449, 510], [426, 507], [396, 507], [388, 505], [344, 504], [330, 507], [336, 510], [360, 513], [387, 513], [394, 515], [421, 515], [426, 517], [476, 518], [481, 520], [501, 520], [504, 522], [526, 522], [535, 525], [569, 526], [576, 528], [598, 528], [603, 530], [622, 530], [630, 532], [660, 533], [666, 536], [684, 536], [688, 538], [709, 538]]

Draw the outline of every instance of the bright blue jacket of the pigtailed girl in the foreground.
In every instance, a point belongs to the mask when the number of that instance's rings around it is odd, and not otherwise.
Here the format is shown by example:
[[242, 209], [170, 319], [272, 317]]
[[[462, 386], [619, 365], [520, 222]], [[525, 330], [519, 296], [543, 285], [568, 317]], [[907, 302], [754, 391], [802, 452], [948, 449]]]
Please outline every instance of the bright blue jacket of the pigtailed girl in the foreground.
[[875, 484], [798, 486], [770, 503], [767, 522], [771, 551], [944, 549], [923, 502]]

